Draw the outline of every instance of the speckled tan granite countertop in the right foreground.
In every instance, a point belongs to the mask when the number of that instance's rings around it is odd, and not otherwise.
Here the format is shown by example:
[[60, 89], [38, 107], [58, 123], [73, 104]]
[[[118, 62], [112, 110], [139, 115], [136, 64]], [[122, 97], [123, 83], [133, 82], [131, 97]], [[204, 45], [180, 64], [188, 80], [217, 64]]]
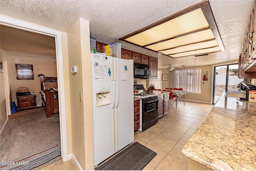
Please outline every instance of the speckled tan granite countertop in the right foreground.
[[223, 93], [181, 153], [214, 170], [256, 170], [256, 103]]

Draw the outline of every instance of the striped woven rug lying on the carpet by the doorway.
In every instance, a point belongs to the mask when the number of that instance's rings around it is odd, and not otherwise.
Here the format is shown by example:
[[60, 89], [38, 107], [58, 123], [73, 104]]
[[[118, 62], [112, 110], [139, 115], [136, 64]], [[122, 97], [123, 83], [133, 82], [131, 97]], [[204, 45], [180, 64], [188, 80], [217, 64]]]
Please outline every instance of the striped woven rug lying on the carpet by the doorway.
[[34, 167], [38, 167], [61, 155], [61, 149], [57, 143], [36, 151], [24, 157], [14, 159], [12, 161], [1, 161], [0, 170], [30, 170]]

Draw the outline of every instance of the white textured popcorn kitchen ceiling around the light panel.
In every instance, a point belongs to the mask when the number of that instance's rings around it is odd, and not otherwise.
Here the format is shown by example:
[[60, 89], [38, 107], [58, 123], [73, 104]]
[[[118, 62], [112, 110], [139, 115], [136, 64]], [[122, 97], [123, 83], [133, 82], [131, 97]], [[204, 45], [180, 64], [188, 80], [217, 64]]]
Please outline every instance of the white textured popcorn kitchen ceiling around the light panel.
[[[0, 14], [64, 32], [78, 18], [84, 18], [90, 21], [91, 37], [110, 44], [197, 2], [200, 0], [1, 0]], [[160, 67], [167, 64], [174, 64], [174, 67], [200, 66], [238, 60], [254, 1], [209, 2], [226, 51], [178, 59], [159, 54]]]

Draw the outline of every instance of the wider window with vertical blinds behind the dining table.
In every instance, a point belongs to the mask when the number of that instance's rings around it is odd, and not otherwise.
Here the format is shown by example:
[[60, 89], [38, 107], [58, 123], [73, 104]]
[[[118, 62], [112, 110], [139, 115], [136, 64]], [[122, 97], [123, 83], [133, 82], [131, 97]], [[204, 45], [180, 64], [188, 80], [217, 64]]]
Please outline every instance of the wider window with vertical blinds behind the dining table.
[[188, 93], [201, 93], [201, 69], [175, 70], [174, 86]]

